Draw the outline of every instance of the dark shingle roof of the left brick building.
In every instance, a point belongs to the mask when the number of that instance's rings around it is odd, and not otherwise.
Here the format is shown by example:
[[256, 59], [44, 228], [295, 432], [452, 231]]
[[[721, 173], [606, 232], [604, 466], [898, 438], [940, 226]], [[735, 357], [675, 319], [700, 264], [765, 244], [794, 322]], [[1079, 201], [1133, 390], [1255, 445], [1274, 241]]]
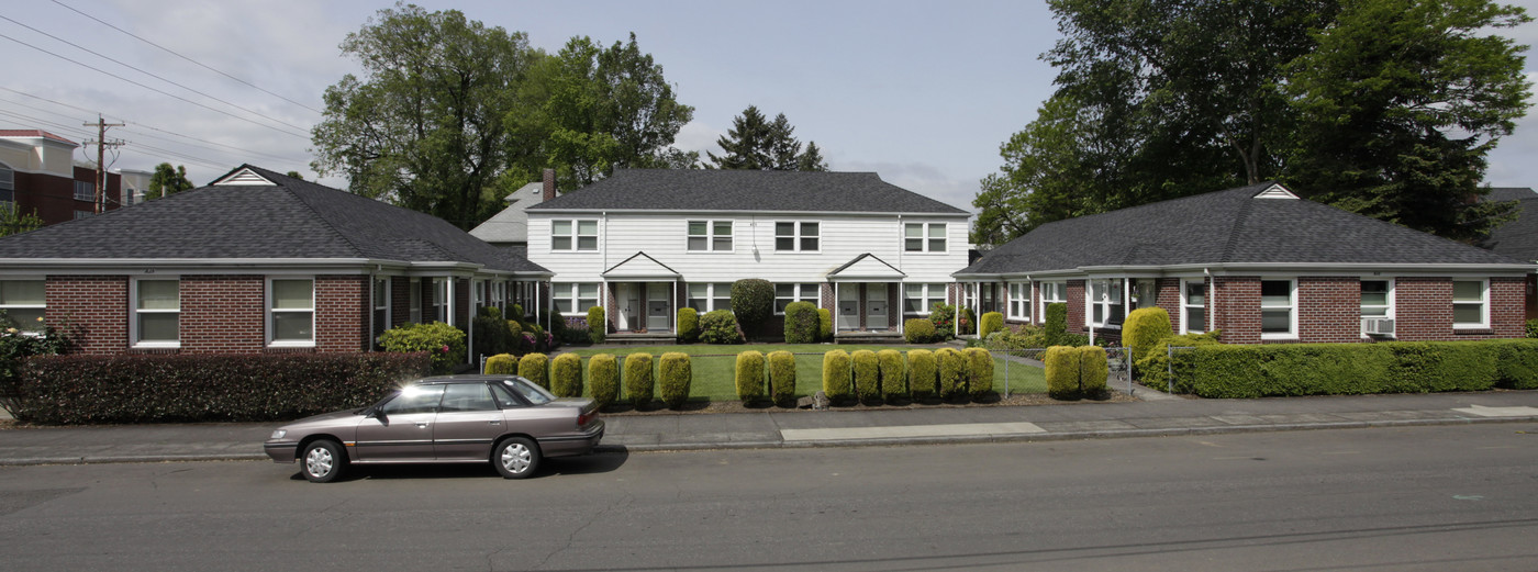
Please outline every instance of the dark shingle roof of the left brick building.
[[[372, 258], [548, 272], [441, 218], [255, 168], [220, 185], [0, 238], [0, 258]], [[220, 177], [223, 178], [223, 177]]]

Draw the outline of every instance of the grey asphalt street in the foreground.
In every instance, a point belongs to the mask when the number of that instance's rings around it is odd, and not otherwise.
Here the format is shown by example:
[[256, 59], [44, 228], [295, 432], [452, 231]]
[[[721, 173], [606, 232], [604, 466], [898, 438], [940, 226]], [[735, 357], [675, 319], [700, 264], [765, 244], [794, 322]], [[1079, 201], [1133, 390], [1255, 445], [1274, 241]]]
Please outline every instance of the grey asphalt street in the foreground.
[[526, 481], [0, 467], [6, 569], [1538, 569], [1538, 423], [614, 452]]

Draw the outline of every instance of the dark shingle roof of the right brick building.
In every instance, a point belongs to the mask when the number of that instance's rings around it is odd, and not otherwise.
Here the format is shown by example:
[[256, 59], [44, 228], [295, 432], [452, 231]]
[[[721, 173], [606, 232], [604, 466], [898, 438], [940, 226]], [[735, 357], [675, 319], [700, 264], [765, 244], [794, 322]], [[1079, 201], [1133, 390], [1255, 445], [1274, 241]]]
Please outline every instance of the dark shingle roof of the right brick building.
[[1041, 224], [957, 274], [1175, 264], [1521, 264], [1500, 254], [1297, 198], [1275, 183]]

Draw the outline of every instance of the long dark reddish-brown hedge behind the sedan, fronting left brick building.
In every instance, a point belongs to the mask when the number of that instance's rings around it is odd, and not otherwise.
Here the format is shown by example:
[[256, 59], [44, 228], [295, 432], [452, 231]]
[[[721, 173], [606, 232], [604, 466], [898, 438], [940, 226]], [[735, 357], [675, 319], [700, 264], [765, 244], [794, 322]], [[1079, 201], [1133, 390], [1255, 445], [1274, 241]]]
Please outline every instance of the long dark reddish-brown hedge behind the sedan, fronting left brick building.
[[363, 407], [431, 369], [424, 352], [38, 355], [12, 411], [45, 424], [278, 421]]

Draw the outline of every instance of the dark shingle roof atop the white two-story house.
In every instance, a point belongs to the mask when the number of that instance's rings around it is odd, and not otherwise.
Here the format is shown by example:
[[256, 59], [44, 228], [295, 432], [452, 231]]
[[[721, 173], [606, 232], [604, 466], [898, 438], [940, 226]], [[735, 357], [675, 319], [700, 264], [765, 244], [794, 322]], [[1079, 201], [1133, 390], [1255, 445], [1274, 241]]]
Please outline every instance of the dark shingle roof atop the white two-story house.
[[529, 211], [804, 211], [967, 214], [874, 172], [618, 169]]

